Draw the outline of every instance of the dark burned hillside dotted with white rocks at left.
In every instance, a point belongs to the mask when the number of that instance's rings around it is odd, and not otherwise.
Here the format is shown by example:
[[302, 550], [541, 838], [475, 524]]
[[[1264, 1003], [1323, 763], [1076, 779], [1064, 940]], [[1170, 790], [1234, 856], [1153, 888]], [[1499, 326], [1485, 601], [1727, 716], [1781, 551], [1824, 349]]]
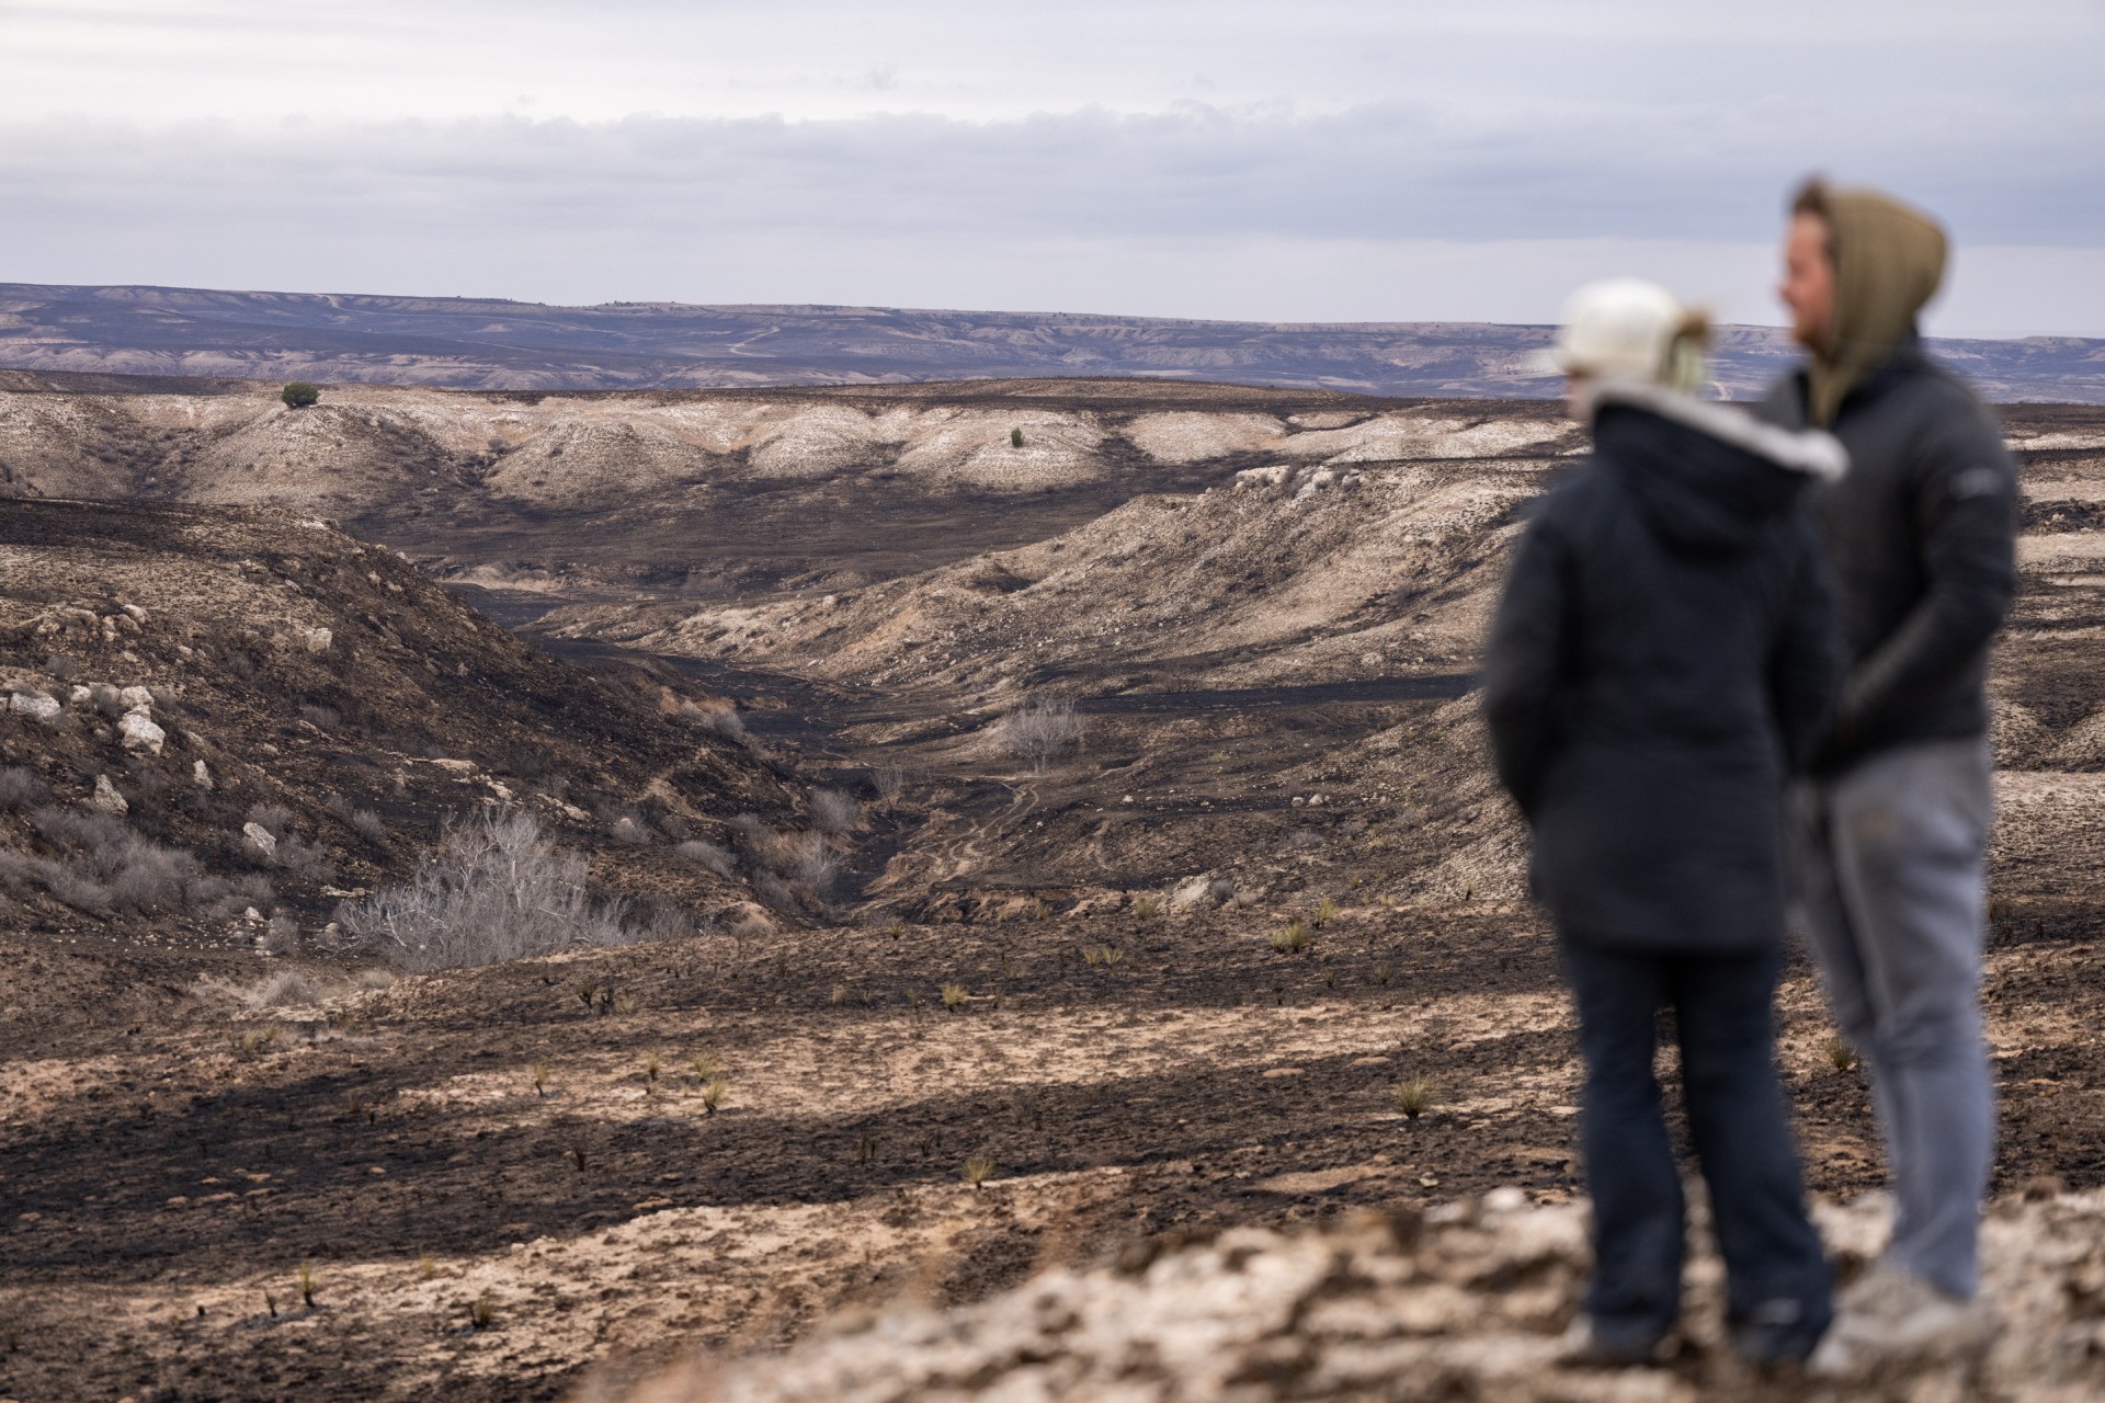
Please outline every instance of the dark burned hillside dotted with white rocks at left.
[[490, 808], [711, 919], [751, 890], [676, 846], [800, 804], [709, 698], [585, 675], [282, 511], [6, 503], [0, 639], [0, 888], [46, 947], [316, 949]]

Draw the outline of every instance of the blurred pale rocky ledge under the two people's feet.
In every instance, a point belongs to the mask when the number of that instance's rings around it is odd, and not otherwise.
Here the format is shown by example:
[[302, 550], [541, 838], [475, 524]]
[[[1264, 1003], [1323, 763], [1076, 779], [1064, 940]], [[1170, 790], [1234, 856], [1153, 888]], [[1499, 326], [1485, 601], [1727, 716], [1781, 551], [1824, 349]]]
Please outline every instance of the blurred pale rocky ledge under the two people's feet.
[[[1823, 1207], [1844, 1277], [1886, 1235], [1886, 1203]], [[2105, 1195], [1998, 1203], [1985, 1231], [2000, 1329], [1983, 1357], [1922, 1359], [1871, 1380], [1762, 1378], [1726, 1348], [1722, 1268], [1688, 1270], [1686, 1340], [1659, 1369], [1560, 1363], [1585, 1277], [1585, 1212], [1518, 1191], [1427, 1216], [1362, 1216], [1280, 1235], [1130, 1252], [1052, 1270], [958, 1310], [844, 1317], [785, 1355], [695, 1361], [600, 1403], [928, 1403], [1090, 1399], [1438, 1399], [1476, 1403], [1703, 1403], [1890, 1399], [2078, 1403], [2105, 1397]]]

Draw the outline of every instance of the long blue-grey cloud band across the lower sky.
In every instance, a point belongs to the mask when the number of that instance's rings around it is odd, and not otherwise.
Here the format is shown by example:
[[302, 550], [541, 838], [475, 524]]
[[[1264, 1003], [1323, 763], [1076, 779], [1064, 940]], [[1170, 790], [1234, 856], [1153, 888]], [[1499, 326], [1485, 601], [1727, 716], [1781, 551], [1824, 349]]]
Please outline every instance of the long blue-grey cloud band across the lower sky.
[[[114, 221], [345, 223], [499, 236], [829, 229], [1031, 236], [1760, 238], [1808, 168], [1888, 183], [1974, 242], [2090, 246], [2105, 229], [2105, 97], [2052, 122], [1953, 118], [1930, 141], [1657, 114], [1516, 130], [1419, 105], [1335, 116], [1181, 107], [1006, 122], [933, 116], [29, 124], [0, 130], [0, 229]], [[1836, 135], [1840, 133], [1840, 135]]]

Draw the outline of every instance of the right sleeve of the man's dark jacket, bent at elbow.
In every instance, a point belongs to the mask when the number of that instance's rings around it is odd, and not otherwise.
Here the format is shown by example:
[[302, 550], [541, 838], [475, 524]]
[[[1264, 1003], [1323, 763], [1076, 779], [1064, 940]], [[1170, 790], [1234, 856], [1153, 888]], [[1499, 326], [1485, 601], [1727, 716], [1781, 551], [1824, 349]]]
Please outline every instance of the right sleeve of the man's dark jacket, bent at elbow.
[[1987, 412], [1945, 421], [1916, 454], [1916, 538], [1928, 589], [1842, 690], [1840, 730], [1964, 669], [2002, 627], [2017, 585], [2017, 469]]

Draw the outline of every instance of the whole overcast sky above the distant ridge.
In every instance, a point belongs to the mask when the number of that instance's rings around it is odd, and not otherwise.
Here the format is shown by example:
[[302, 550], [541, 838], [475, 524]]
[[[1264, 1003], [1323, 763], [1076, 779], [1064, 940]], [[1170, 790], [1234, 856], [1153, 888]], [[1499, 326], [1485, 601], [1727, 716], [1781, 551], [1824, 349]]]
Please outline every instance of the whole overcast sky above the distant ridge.
[[2105, 0], [0, 0], [0, 280], [1777, 320], [1793, 181], [2105, 337]]

